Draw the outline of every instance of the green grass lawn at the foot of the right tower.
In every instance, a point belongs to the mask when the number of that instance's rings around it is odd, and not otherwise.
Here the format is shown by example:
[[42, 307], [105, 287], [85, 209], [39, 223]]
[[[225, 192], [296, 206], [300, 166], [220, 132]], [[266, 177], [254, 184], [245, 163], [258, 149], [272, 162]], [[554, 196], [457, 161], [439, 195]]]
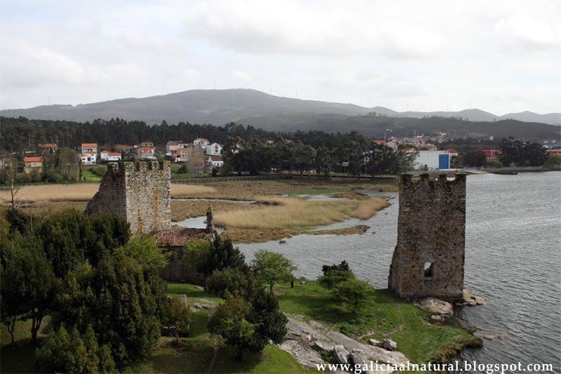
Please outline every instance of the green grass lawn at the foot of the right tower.
[[391, 338], [413, 362], [445, 361], [463, 347], [479, 346], [481, 340], [460, 326], [428, 323], [431, 313], [396, 297], [388, 290], [374, 290], [362, 312], [349, 314], [331, 300], [330, 291], [317, 281], [302, 280], [276, 288], [280, 309], [324, 321], [358, 340]]

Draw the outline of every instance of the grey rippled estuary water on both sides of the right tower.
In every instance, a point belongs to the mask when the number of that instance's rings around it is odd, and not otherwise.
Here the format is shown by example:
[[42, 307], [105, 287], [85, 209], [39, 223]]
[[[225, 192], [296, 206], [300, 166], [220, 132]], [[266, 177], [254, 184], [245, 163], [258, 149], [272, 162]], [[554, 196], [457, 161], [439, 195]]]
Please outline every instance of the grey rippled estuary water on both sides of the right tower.
[[[370, 194], [375, 194], [370, 192]], [[297, 276], [316, 278], [321, 266], [347, 260], [357, 276], [386, 288], [396, 246], [398, 194], [392, 205], [367, 221], [347, 220], [326, 228], [365, 224], [363, 235], [299, 235], [240, 244], [248, 260], [259, 248], [284, 253]], [[470, 175], [467, 182], [466, 287], [489, 302], [455, 311], [464, 326], [477, 326], [484, 347], [460, 359], [478, 363], [551, 363], [561, 373], [561, 173]]]

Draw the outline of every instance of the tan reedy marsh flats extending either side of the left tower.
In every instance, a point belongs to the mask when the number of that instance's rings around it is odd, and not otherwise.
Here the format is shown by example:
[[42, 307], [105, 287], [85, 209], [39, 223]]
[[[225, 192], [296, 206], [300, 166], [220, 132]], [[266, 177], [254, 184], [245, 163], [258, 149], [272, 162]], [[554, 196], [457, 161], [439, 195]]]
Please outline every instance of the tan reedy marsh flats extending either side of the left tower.
[[[83, 210], [98, 185], [30, 185], [18, 192], [18, 198], [30, 203], [35, 213], [58, 211], [74, 206]], [[355, 182], [325, 180], [259, 180], [216, 182], [212, 185], [184, 185], [173, 183], [171, 194], [172, 220], [205, 215], [211, 206], [215, 223], [226, 229], [226, 235], [238, 242], [264, 242], [306, 232], [309, 234], [361, 234], [363, 225], [327, 232], [311, 232], [319, 225], [342, 221], [346, 217], [367, 219], [387, 202], [353, 192], [356, 189], [395, 191], [387, 182]], [[316, 201], [297, 195], [332, 194], [341, 199]], [[288, 196], [278, 196], [288, 195]], [[258, 201], [256, 204], [229, 201], [180, 201], [187, 199], [229, 199]], [[10, 192], [0, 191], [0, 199], [9, 201]]]

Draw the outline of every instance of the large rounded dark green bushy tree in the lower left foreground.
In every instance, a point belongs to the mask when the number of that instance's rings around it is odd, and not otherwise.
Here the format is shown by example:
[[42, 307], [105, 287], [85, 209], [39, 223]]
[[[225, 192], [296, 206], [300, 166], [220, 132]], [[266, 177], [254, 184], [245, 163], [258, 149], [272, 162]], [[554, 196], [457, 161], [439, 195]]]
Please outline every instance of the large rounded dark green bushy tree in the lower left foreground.
[[[159, 290], [158, 292], [164, 292]], [[161, 309], [149, 276], [133, 258], [105, 255], [96, 268], [87, 263], [65, 277], [57, 296], [55, 321], [85, 331], [93, 327], [100, 344], [111, 347], [119, 367], [146, 357], [160, 336]]]

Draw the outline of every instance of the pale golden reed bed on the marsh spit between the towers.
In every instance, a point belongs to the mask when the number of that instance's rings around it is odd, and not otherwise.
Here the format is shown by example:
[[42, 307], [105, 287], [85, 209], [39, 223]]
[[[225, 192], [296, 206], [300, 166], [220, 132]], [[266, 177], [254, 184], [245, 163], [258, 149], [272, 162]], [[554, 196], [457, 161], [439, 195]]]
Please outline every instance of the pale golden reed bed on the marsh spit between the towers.
[[240, 229], [290, 229], [302, 230], [347, 217], [366, 220], [389, 205], [380, 197], [367, 200], [310, 201], [292, 197], [269, 197], [274, 205], [252, 211], [229, 211], [215, 214], [215, 224], [220, 227]]

